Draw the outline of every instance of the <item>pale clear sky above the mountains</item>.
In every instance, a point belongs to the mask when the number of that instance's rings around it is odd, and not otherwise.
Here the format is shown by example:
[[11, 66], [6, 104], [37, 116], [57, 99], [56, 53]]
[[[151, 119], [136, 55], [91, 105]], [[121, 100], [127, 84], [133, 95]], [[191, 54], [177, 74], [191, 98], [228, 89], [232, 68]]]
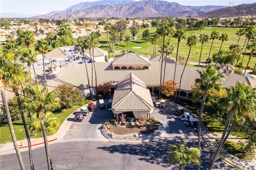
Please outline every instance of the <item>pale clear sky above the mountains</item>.
[[[54, 10], [65, 10], [80, 2], [96, 0], [0, 0], [1, 13], [17, 14], [48, 14]], [[255, 3], [256, 0], [167, 0], [186, 6], [221, 5], [236, 6], [239, 4]]]

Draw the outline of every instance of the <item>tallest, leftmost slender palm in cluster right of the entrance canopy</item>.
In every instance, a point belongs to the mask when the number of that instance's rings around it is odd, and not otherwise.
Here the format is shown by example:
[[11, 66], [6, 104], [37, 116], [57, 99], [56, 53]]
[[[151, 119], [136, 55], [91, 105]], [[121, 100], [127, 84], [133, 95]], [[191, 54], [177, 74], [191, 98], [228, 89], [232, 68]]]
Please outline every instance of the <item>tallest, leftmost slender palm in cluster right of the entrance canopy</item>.
[[[161, 27], [161, 35], [163, 36], [163, 44], [162, 44], [162, 51], [164, 51], [164, 39], [166, 36], [171, 36], [174, 30], [170, 28], [167, 24]], [[164, 53], [162, 53], [162, 62], [161, 62], [161, 73], [160, 73], [160, 90], [159, 90], [159, 97], [161, 98], [161, 85], [162, 85], [162, 68], [163, 68], [163, 60], [164, 60]]]

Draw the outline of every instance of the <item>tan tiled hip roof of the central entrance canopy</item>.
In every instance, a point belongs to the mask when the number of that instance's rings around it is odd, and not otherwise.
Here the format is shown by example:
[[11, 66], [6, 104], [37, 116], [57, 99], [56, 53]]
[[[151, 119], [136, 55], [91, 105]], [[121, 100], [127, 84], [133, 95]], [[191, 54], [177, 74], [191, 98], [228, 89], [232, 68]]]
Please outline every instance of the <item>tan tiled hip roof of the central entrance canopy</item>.
[[150, 111], [154, 109], [149, 89], [138, 77], [129, 73], [114, 91], [114, 111]]

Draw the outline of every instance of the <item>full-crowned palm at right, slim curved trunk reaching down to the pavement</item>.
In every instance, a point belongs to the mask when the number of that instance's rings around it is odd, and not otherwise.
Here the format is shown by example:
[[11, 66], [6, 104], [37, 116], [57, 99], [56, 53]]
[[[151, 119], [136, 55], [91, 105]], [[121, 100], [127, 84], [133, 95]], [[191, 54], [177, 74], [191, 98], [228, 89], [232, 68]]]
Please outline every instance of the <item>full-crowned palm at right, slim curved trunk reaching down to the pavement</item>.
[[[206, 95], [208, 91], [219, 91], [221, 84], [221, 74], [212, 66], [208, 65], [206, 70], [200, 71], [200, 79], [196, 79], [196, 84], [199, 86], [202, 92], [202, 103], [200, 107], [200, 116], [199, 116], [199, 124], [198, 124], [198, 149], [201, 150], [201, 124], [202, 124], [202, 113], [204, 109], [204, 102], [206, 99]], [[198, 169], [200, 168], [200, 157]]]

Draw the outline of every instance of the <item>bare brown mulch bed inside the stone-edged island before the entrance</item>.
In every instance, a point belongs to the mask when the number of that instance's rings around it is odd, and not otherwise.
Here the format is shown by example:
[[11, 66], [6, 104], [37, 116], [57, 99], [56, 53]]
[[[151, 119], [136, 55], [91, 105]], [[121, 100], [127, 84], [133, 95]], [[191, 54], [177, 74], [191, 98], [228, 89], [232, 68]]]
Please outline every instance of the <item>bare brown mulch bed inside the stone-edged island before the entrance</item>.
[[146, 127], [139, 127], [138, 125], [130, 126], [127, 125], [125, 127], [121, 127], [119, 125], [112, 125], [110, 126], [111, 133], [117, 134], [117, 135], [129, 135], [129, 134], [152, 134], [153, 132], [156, 132], [158, 130], [158, 124], [151, 123], [150, 125], [146, 125]]

